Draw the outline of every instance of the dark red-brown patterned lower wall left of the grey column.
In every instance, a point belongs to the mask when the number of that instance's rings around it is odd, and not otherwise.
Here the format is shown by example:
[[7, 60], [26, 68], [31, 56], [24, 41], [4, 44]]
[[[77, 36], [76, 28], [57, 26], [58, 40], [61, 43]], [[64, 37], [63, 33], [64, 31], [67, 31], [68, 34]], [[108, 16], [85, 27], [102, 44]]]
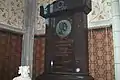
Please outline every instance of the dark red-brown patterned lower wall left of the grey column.
[[17, 76], [21, 63], [22, 36], [0, 31], [0, 80], [12, 80]]

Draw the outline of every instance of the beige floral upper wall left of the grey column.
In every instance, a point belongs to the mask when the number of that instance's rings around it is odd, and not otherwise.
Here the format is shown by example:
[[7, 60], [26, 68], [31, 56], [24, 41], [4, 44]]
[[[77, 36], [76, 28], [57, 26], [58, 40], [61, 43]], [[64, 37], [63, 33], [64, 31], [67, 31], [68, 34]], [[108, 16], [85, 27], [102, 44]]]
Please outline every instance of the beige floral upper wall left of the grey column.
[[23, 27], [24, 0], [0, 0], [0, 23]]

